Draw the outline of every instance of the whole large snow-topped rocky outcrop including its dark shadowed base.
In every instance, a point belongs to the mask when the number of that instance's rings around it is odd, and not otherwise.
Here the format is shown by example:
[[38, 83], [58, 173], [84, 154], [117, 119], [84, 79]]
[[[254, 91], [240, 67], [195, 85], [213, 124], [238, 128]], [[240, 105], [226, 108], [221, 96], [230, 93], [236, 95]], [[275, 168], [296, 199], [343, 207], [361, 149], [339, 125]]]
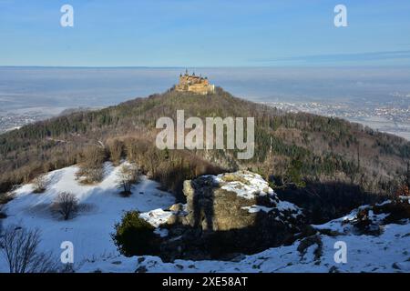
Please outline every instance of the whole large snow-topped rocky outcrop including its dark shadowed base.
[[171, 206], [166, 260], [251, 254], [292, 243], [302, 210], [281, 201], [261, 176], [240, 171], [185, 181], [186, 206]]

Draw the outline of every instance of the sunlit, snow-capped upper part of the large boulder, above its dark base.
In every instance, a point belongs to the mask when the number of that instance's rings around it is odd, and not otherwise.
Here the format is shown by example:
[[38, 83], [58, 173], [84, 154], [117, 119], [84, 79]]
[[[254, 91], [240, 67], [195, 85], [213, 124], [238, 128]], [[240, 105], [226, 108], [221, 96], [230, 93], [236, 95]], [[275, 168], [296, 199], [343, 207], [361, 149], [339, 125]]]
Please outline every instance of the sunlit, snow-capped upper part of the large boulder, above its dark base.
[[185, 181], [187, 223], [204, 231], [231, 231], [281, 224], [300, 225], [302, 211], [281, 201], [261, 176], [249, 171]]

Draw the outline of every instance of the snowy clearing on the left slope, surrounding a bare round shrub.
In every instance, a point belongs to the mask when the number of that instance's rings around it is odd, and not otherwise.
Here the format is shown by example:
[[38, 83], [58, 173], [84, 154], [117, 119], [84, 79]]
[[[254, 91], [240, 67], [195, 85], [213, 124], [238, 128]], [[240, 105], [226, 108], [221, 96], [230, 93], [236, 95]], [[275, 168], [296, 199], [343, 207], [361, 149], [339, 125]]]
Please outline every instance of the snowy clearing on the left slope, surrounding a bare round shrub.
[[[41, 248], [51, 251], [56, 256], [62, 252], [60, 245], [64, 241], [74, 244], [75, 262], [90, 258], [118, 256], [110, 234], [124, 212], [138, 210], [149, 212], [152, 209], [167, 208], [175, 203], [174, 196], [158, 189], [159, 184], [142, 177], [129, 197], [119, 195], [116, 186], [119, 167], [105, 165], [104, 180], [94, 186], [77, 183], [77, 166], [70, 166], [50, 172], [47, 177], [50, 185], [45, 193], [33, 194], [33, 186], [28, 184], [15, 191], [15, 199], [5, 205], [7, 218], [3, 226], [18, 225], [41, 230]], [[70, 192], [77, 196], [83, 208], [72, 220], [63, 221], [52, 216], [49, 205], [61, 192]], [[150, 220], [149, 222], [157, 222]], [[0, 272], [6, 271], [3, 256], [0, 256]]]

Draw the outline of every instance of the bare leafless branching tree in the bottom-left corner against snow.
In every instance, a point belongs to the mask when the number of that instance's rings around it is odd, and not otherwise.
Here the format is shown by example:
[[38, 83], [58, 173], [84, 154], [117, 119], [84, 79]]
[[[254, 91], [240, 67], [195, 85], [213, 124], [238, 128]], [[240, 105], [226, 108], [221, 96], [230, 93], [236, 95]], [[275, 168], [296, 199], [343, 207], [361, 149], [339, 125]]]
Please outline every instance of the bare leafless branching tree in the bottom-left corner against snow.
[[0, 238], [2, 253], [10, 273], [50, 273], [56, 272], [56, 261], [52, 255], [38, 250], [40, 244], [38, 229], [27, 230], [8, 226]]

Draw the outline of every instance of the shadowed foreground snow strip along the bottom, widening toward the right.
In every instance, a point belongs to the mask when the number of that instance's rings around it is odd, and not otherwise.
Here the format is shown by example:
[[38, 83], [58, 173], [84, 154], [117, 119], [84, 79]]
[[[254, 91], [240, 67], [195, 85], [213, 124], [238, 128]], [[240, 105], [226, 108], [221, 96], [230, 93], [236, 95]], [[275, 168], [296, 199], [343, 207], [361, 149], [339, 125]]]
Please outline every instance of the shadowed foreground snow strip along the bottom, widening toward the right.
[[[104, 272], [129, 272], [142, 267], [147, 272], [154, 273], [239, 273], [239, 272], [275, 272], [275, 273], [313, 273], [329, 272], [336, 269], [339, 272], [410, 272], [410, 225], [389, 225], [381, 236], [321, 236], [323, 256], [315, 259], [314, 251], [317, 245], [307, 248], [302, 256], [297, 247], [292, 246], [270, 248], [259, 254], [245, 256], [240, 262], [224, 261], [190, 261], [176, 260], [174, 263], [163, 263], [156, 256], [140, 256], [134, 258], [118, 258], [121, 266], [113, 265], [104, 260], [98, 263], [86, 263], [79, 270], [93, 272], [97, 268]], [[407, 235], [407, 236], [406, 236]], [[343, 241], [347, 245], [347, 263], [334, 262], [336, 242]], [[139, 263], [138, 263], [139, 262]]]

